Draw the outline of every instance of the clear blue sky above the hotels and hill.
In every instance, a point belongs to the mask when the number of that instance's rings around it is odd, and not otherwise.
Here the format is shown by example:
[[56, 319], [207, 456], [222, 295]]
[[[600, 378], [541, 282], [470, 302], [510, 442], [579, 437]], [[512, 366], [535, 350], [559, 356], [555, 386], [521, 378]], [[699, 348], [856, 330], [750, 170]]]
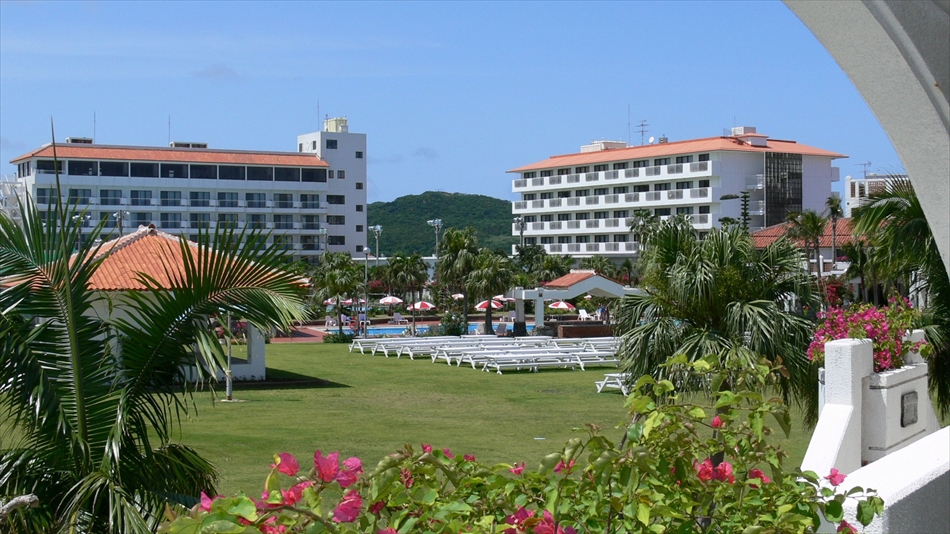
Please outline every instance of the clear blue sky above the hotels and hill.
[[[319, 102], [319, 112], [318, 112]], [[833, 150], [842, 179], [900, 159], [779, 2], [0, 1], [0, 173], [50, 140], [296, 149], [320, 117], [367, 134], [371, 201], [511, 199], [508, 169], [595, 139], [755, 126]], [[835, 187], [842, 189], [842, 185]]]

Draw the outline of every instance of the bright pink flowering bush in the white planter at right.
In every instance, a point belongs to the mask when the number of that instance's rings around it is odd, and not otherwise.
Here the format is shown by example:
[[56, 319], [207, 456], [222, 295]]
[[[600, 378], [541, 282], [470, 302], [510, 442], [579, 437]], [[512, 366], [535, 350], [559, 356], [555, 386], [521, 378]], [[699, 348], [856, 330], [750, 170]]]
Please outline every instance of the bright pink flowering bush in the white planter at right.
[[814, 340], [808, 346], [808, 359], [825, 363], [825, 343], [835, 339], [868, 338], [874, 343], [874, 372], [886, 371], [904, 365], [908, 352], [918, 351], [921, 343], [907, 343], [904, 336], [913, 326], [919, 312], [910, 301], [891, 297], [886, 308], [870, 304], [851, 308], [831, 307], [818, 314], [823, 322], [815, 331]]

